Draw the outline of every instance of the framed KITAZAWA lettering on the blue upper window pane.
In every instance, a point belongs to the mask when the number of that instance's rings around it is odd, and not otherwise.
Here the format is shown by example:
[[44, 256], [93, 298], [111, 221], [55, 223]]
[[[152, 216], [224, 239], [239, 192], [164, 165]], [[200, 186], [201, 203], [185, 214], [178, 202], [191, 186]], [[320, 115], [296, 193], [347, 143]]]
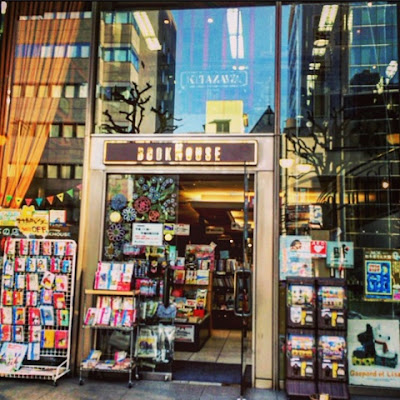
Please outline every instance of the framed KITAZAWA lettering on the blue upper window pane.
[[247, 71], [199, 72], [185, 71], [181, 73], [181, 88], [241, 87], [247, 86]]

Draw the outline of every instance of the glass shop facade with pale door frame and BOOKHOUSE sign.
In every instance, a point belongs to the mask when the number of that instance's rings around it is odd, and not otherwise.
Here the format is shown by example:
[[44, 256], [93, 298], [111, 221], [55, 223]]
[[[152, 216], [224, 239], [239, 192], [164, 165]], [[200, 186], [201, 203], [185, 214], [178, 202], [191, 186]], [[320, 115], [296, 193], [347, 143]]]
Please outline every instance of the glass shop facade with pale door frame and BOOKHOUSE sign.
[[[11, 211], [48, 213], [49, 237], [78, 243], [80, 299], [99, 261], [134, 258], [134, 223], [189, 227], [164, 240], [168, 261], [213, 243], [252, 271], [256, 387], [288, 380], [290, 279], [336, 279], [344, 381], [399, 389], [399, 16], [394, 2], [2, 2], [3, 245], [22, 235]], [[234, 324], [228, 297], [210, 288], [213, 326], [220, 311]], [[367, 326], [390, 336], [368, 365]]]

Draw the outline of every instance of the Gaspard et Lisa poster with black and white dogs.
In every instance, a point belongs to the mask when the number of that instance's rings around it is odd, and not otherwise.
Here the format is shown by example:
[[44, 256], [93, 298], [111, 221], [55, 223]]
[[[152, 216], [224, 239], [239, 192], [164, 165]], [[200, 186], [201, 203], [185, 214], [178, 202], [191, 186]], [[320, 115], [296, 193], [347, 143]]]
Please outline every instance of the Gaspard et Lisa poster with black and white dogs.
[[351, 319], [347, 340], [351, 385], [400, 387], [398, 320]]

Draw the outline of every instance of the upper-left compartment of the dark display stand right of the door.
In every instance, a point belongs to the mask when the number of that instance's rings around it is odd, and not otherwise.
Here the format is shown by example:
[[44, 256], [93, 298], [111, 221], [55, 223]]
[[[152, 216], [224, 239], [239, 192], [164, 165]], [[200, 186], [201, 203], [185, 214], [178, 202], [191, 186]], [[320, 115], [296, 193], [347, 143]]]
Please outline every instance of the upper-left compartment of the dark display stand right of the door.
[[288, 278], [286, 288], [287, 324], [293, 328], [313, 328], [316, 319], [314, 279]]

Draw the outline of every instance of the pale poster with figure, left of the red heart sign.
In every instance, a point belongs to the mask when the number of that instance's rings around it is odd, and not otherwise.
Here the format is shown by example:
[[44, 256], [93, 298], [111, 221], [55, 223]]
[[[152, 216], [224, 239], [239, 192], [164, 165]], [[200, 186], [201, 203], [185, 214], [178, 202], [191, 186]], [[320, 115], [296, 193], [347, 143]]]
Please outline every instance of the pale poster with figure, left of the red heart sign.
[[281, 236], [279, 258], [281, 280], [288, 276], [313, 276], [310, 236]]

